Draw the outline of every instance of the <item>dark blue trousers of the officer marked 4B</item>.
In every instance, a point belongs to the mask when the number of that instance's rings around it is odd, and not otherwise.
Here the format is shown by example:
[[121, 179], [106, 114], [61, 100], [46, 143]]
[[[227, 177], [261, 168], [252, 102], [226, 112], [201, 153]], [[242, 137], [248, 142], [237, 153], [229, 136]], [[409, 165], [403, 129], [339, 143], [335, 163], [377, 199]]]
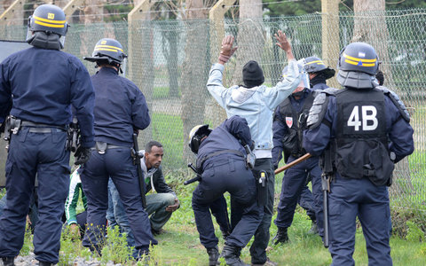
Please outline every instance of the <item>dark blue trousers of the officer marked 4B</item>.
[[368, 265], [392, 265], [390, 258], [390, 206], [386, 186], [367, 178], [336, 177], [328, 194], [331, 265], [355, 265], [356, 217], [366, 239]]

